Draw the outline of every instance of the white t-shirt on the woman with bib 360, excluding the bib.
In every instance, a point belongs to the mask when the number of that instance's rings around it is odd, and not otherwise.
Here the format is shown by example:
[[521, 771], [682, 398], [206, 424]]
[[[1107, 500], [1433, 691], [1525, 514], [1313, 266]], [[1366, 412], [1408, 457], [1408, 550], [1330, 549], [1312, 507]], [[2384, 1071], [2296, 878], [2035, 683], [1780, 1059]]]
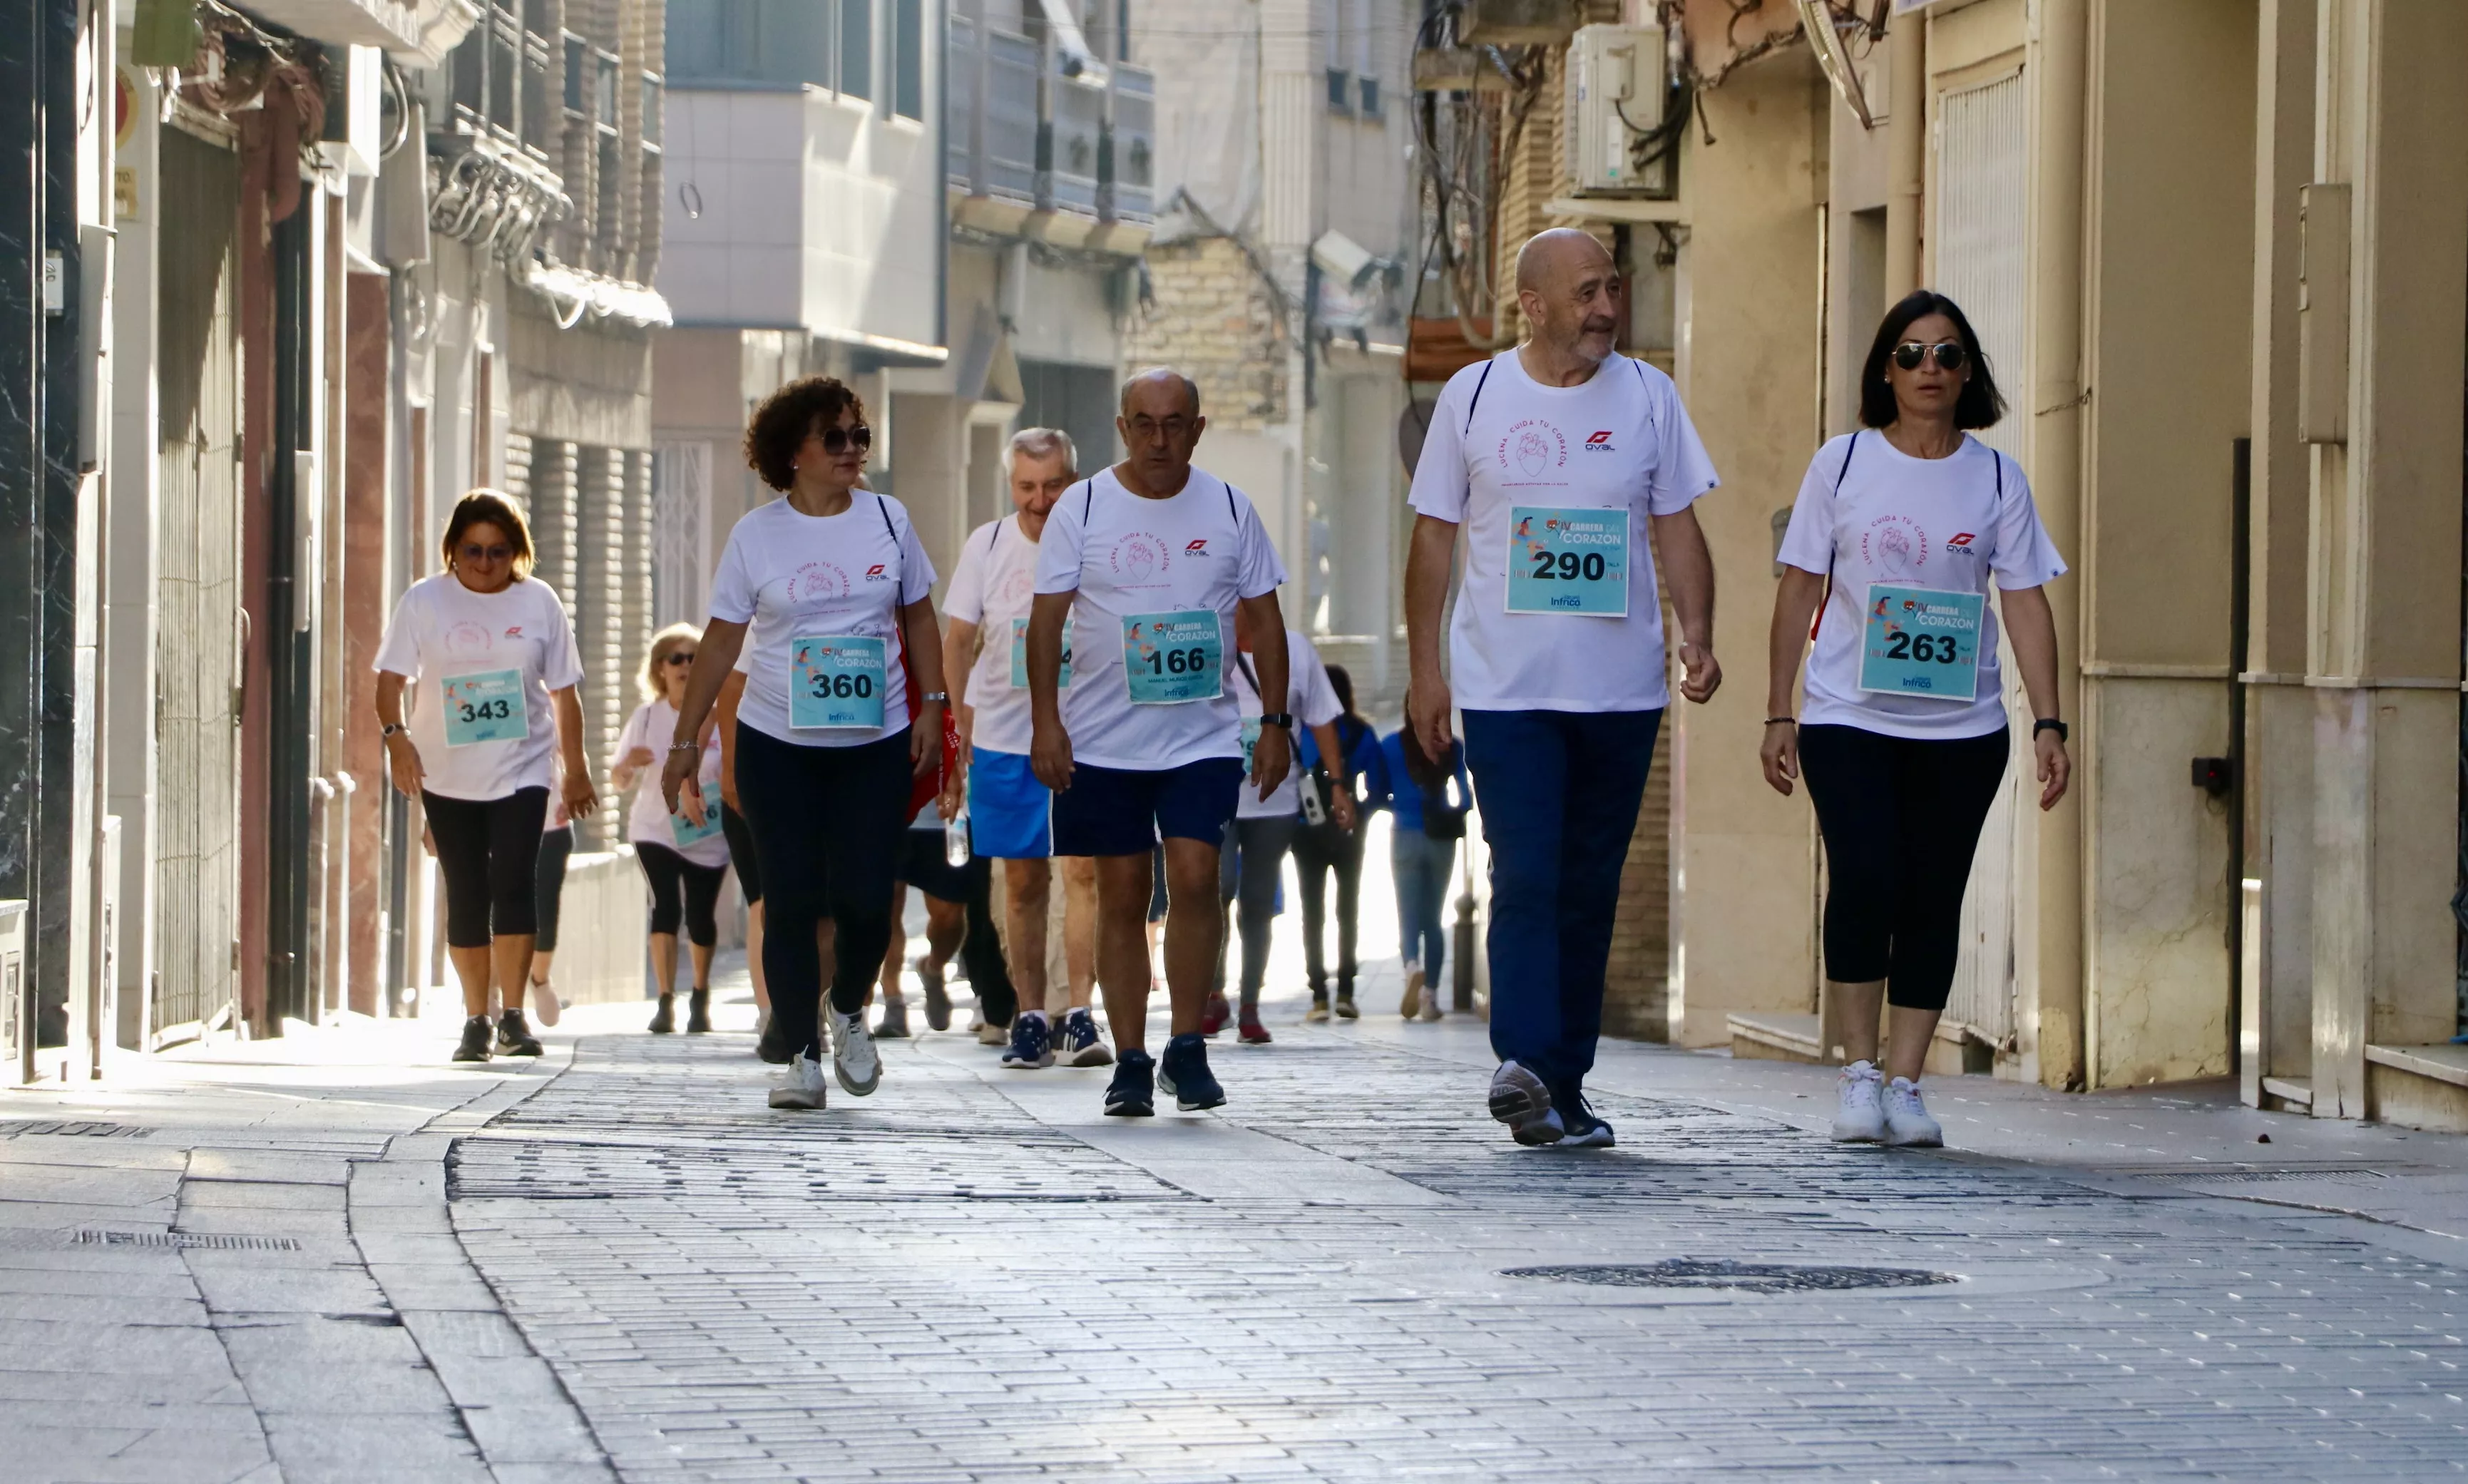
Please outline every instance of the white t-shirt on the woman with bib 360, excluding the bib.
[[[711, 617], [750, 622], [738, 726], [802, 748], [854, 748], [908, 726], [901, 605], [933, 593], [933, 563], [908, 509], [856, 489], [837, 516], [785, 499], [745, 511], [711, 580]], [[790, 721], [792, 640], [856, 635], [884, 642], [884, 726], [797, 728]]]

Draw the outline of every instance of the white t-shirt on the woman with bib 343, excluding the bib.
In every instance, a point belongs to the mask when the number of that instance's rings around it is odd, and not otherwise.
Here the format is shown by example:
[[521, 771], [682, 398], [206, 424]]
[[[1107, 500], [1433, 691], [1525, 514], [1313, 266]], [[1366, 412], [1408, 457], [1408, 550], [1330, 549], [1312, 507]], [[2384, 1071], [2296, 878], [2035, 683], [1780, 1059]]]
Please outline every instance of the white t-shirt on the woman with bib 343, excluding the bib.
[[[558, 716], [548, 694], [582, 682], [582, 654], [548, 583], [521, 578], [501, 593], [474, 593], [454, 573], [420, 578], [395, 605], [370, 669], [412, 682], [402, 686], [402, 709], [429, 793], [491, 800], [521, 788], [558, 788]], [[511, 686], [491, 684], [508, 672]], [[496, 726], [484, 721], [479, 731], [503, 731], [513, 701], [521, 701], [528, 728], [447, 746], [474, 731], [464, 721], [449, 736], [447, 682], [486, 686], [474, 694], [508, 714]]]

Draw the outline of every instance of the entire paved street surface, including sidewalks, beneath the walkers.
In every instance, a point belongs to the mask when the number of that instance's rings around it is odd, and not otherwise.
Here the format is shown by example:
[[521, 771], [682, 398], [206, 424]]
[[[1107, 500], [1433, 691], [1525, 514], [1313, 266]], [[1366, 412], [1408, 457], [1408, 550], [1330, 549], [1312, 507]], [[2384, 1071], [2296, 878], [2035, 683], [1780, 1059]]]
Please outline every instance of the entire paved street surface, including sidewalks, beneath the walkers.
[[[7, 1477], [2468, 1469], [2458, 1141], [1972, 1082], [1950, 1138], [2039, 1163], [1844, 1151], [1824, 1074], [1612, 1047], [1619, 1148], [1518, 1151], [1478, 1025], [1298, 1010], [1219, 1052], [1222, 1114], [1150, 1123], [963, 1035], [772, 1114], [743, 1003], [578, 1010], [540, 1067], [420, 1022], [17, 1094]], [[2384, 1210], [2315, 1210], [2347, 1193]], [[1654, 1286], [1505, 1277], [1577, 1264]]]

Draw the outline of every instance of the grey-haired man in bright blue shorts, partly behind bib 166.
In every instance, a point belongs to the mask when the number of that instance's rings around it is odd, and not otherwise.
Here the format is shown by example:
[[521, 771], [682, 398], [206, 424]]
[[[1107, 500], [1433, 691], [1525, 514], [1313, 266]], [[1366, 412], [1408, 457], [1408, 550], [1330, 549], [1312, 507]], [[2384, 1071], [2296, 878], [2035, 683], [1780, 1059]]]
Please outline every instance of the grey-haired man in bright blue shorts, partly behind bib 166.
[[[1096, 862], [1064, 857], [1064, 963], [1069, 1003], [1061, 1025], [1046, 1020], [1046, 916], [1054, 889], [1054, 793], [1029, 770], [1029, 602], [1037, 598], [1037, 543], [1054, 501], [1079, 479], [1071, 437], [1024, 427], [1002, 454], [1012, 514], [970, 531], [943, 602], [943, 674], [960, 716], [965, 775], [945, 783], [945, 815], [967, 802], [977, 854], [1002, 862], [1004, 961], [1019, 988], [1004, 1067], [1113, 1062], [1088, 1012], [1096, 988]], [[1066, 662], [1069, 664], [1069, 662]]]

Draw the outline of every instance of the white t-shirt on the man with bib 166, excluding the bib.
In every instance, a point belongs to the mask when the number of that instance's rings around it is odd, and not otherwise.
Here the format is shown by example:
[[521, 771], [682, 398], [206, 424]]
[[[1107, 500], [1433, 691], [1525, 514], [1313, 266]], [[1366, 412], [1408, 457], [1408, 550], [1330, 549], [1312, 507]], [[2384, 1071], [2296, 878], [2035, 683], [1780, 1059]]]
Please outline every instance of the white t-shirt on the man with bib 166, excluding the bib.
[[1037, 590], [1079, 593], [1071, 686], [1061, 696], [1071, 758], [1143, 773], [1239, 758], [1241, 704], [1232, 682], [1214, 701], [1133, 704], [1123, 622], [1143, 612], [1209, 610], [1232, 674], [1234, 605], [1276, 593], [1283, 580], [1259, 511], [1214, 474], [1192, 469], [1172, 499], [1130, 494], [1113, 469], [1066, 489], [1037, 543]]

